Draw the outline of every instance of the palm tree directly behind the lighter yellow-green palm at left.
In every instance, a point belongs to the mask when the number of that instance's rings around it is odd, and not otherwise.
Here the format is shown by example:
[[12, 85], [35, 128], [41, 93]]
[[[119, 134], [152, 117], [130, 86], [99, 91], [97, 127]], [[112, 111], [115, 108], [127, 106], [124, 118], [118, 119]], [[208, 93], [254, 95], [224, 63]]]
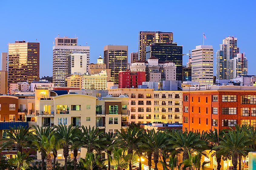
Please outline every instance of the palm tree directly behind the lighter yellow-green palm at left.
[[[34, 141], [37, 141], [38, 144], [43, 144], [42, 143], [42, 137], [43, 136], [49, 136], [50, 133], [52, 132], [52, 128], [50, 128], [49, 126], [48, 127], [42, 127], [42, 126], [35, 126], [35, 125], [32, 125], [32, 127], [35, 129], [35, 133], [33, 135], [33, 140]], [[41, 166], [41, 169], [44, 170], [44, 163], [45, 163], [45, 152], [44, 150], [40, 150], [40, 153], [41, 153], [41, 159], [42, 159], [42, 166]], [[55, 168], [55, 167], [54, 167]]]

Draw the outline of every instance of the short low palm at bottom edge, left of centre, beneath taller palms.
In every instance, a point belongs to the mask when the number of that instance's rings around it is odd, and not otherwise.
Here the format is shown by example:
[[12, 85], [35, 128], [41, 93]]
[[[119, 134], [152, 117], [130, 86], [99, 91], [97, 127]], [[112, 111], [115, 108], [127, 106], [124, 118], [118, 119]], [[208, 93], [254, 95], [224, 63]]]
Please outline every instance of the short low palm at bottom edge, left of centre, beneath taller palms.
[[105, 159], [101, 159], [101, 155], [95, 156], [94, 153], [86, 153], [85, 159], [80, 159], [84, 167], [88, 170], [93, 170], [94, 168], [102, 167], [104, 165]]

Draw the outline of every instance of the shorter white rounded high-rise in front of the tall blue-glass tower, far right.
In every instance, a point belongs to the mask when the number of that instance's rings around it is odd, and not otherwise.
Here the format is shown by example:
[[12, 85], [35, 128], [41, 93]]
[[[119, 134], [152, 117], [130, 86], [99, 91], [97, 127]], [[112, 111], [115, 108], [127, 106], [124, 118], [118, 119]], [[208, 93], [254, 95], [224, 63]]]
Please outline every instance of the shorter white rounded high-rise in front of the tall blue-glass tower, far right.
[[237, 57], [229, 60], [228, 68], [228, 75], [230, 79], [236, 78], [238, 75], [247, 75], [248, 61], [244, 53], [238, 53]]

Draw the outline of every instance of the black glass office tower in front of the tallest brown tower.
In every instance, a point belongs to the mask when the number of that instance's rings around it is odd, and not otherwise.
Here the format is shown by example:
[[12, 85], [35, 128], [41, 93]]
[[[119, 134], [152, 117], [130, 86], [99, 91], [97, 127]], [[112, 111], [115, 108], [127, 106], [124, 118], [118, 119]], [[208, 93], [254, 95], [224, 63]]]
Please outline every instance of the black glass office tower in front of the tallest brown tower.
[[146, 47], [146, 60], [158, 58], [159, 61], [171, 61], [176, 66], [176, 80], [182, 81], [182, 46], [177, 43], [152, 43]]

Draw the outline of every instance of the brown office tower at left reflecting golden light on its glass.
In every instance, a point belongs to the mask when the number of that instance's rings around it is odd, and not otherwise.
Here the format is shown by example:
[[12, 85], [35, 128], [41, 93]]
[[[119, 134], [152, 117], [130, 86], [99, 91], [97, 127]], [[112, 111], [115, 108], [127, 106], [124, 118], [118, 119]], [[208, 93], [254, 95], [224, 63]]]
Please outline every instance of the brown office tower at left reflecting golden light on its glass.
[[40, 43], [9, 43], [8, 83], [39, 81], [39, 48]]

